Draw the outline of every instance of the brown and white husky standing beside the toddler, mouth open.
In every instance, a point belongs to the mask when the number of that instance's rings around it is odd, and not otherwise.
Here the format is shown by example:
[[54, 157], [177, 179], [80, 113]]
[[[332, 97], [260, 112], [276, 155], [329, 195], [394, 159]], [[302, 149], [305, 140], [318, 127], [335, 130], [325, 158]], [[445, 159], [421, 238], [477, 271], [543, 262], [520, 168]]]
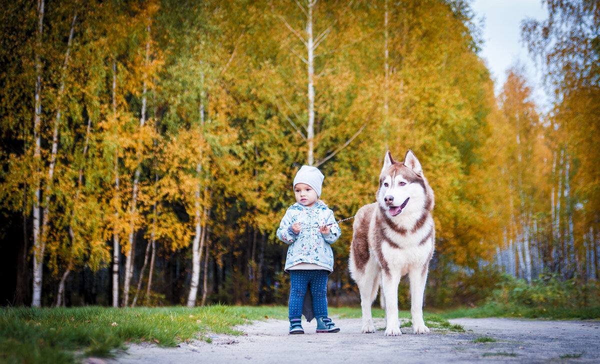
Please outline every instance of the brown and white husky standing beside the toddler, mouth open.
[[402, 335], [398, 284], [406, 274], [413, 333], [429, 332], [423, 321], [423, 294], [435, 240], [433, 190], [412, 151], [406, 153], [404, 163], [386, 153], [376, 200], [356, 213], [350, 246], [350, 273], [361, 293], [362, 332], [375, 332], [371, 304], [381, 285], [385, 335]]

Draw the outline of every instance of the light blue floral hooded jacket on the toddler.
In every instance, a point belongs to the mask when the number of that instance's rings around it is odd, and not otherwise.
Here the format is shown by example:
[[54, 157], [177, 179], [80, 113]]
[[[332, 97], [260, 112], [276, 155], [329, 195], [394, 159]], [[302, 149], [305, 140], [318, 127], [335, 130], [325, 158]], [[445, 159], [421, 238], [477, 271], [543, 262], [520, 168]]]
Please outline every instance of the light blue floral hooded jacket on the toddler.
[[[299, 233], [292, 230], [292, 224], [296, 221], [302, 224]], [[319, 226], [331, 223], [333, 225], [329, 234], [321, 234]], [[310, 263], [333, 272], [334, 252], [329, 245], [340, 237], [340, 233], [334, 212], [323, 201], [319, 200], [311, 207], [299, 203], [290, 206], [277, 229], [277, 237], [290, 244], [287, 248], [285, 270], [299, 263]]]

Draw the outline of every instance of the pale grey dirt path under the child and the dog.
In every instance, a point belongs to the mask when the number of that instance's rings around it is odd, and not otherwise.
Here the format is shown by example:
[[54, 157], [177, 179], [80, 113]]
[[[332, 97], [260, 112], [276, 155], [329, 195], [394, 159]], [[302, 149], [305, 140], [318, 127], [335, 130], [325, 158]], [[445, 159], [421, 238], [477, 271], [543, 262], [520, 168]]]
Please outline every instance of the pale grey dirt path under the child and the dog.
[[[541, 321], [508, 318], [460, 318], [464, 333], [432, 330], [426, 335], [386, 337], [383, 330], [362, 334], [360, 319], [335, 318], [339, 333], [288, 335], [287, 321], [268, 320], [242, 326], [244, 336], [214, 335], [178, 348], [131, 345], [107, 363], [600, 363], [600, 321]], [[376, 328], [383, 328], [382, 319]], [[488, 337], [495, 342], [475, 343]]]

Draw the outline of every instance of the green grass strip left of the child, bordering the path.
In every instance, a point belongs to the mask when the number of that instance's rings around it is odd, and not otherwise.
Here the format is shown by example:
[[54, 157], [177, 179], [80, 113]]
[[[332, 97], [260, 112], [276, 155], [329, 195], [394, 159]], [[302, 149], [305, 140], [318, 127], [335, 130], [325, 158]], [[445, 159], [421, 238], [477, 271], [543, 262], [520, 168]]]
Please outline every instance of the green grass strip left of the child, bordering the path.
[[[210, 341], [210, 333], [241, 335], [232, 327], [253, 320], [283, 318], [286, 307], [204, 308], [2, 308], [0, 362], [74, 363], [80, 356], [109, 356], [126, 342], [173, 347], [182, 341]], [[75, 352], [81, 353], [79, 356]]]

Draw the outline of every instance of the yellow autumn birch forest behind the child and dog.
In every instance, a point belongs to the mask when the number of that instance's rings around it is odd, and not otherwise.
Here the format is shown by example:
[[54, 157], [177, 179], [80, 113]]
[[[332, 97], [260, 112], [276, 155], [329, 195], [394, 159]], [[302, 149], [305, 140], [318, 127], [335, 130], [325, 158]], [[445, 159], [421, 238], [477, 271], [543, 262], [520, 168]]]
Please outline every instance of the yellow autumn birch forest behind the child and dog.
[[[286, 304], [296, 170], [347, 218], [388, 149], [436, 194], [426, 305], [597, 294], [600, 8], [546, 3], [540, 115], [518, 68], [494, 95], [467, 1], [2, 2], [2, 305]], [[333, 305], [358, 302], [341, 228]]]

